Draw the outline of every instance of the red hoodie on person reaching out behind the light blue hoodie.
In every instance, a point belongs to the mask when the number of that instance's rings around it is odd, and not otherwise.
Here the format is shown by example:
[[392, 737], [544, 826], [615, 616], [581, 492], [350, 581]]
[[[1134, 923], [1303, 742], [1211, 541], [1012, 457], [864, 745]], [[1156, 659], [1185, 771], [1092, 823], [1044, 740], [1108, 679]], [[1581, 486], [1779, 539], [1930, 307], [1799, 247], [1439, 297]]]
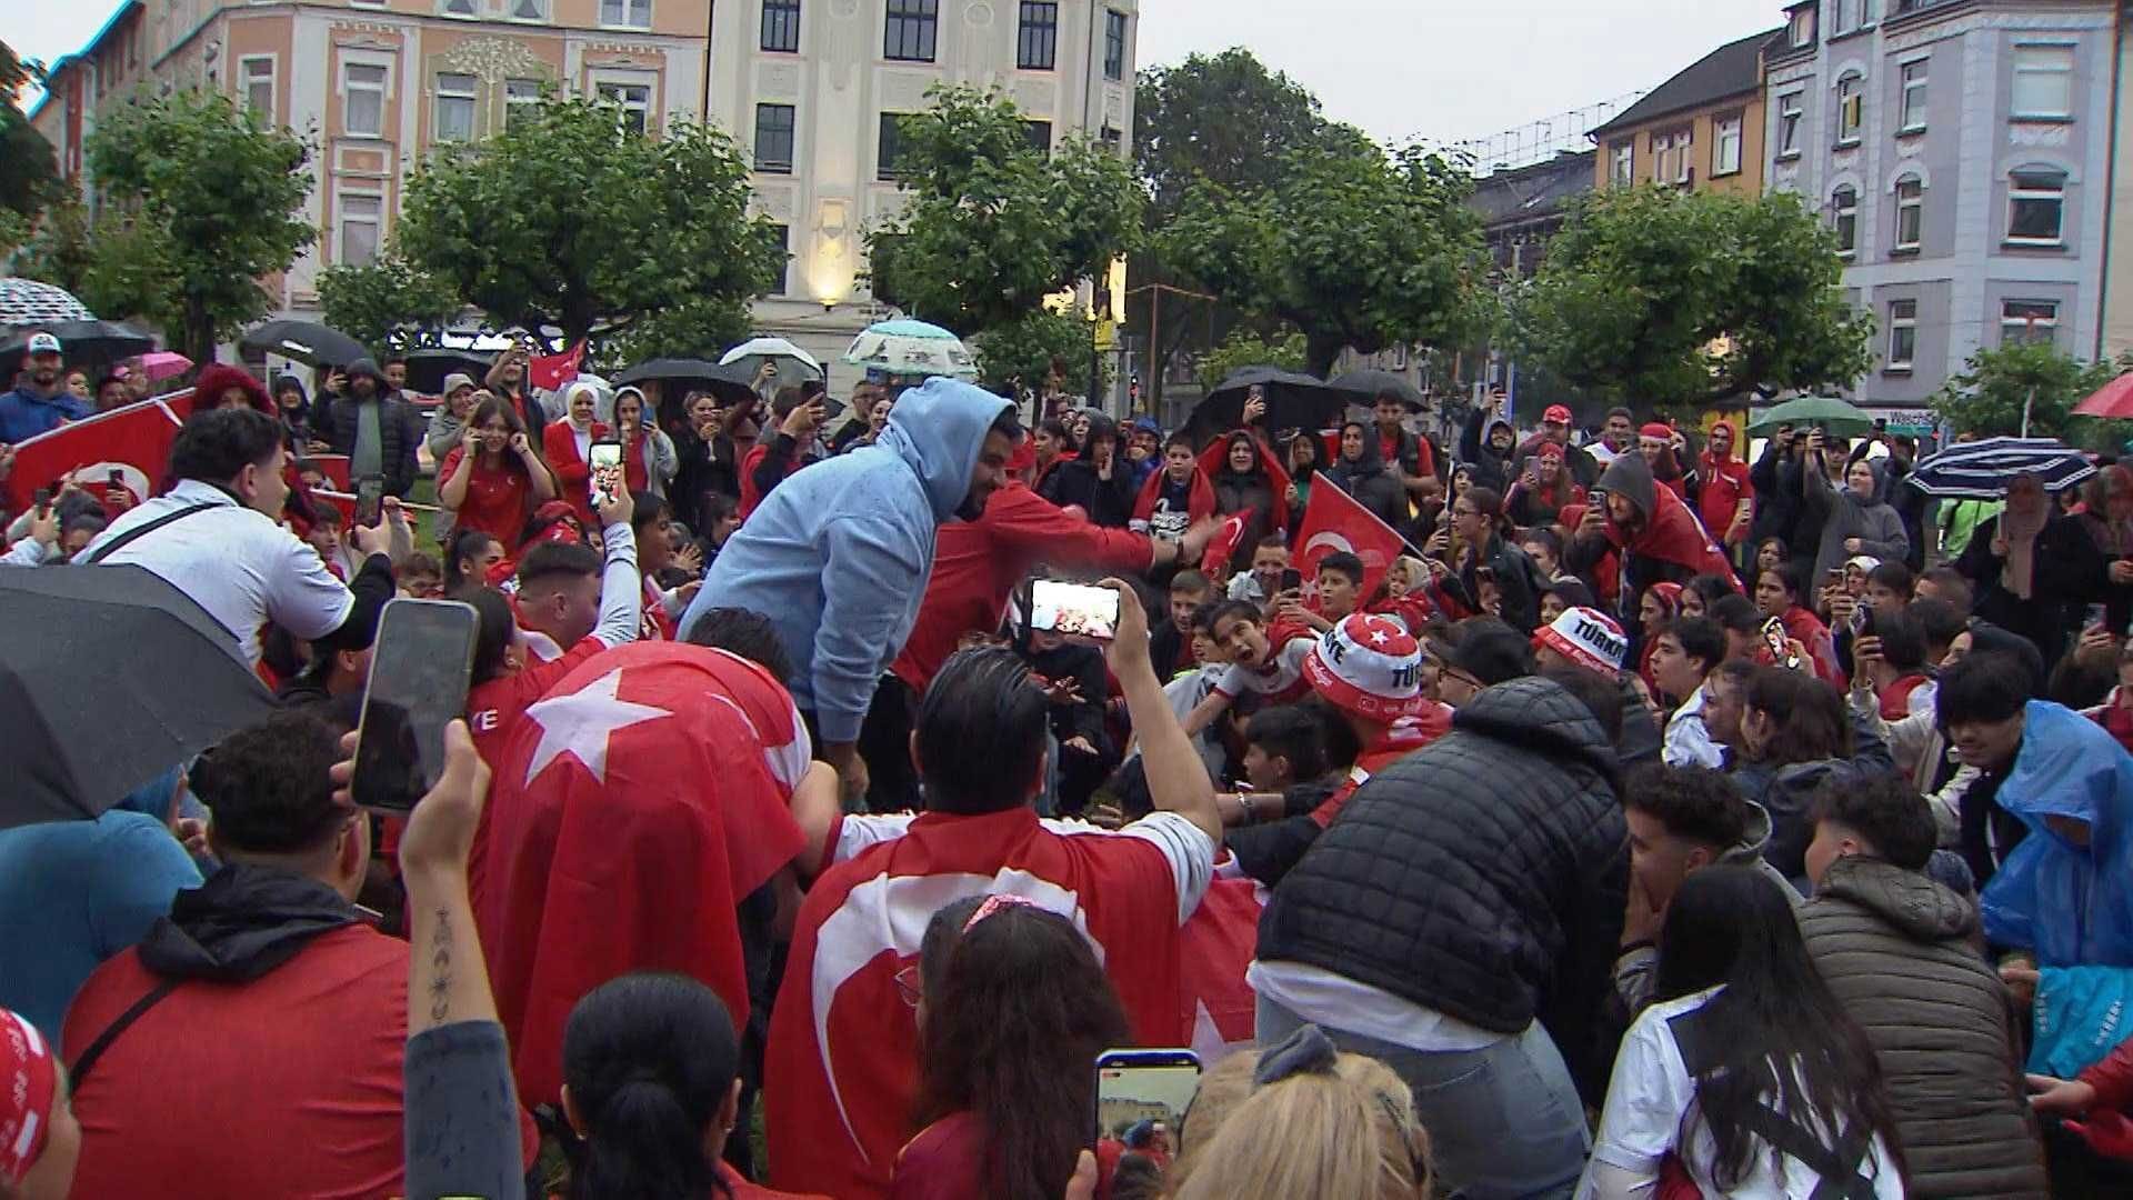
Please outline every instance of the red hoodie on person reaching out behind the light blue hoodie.
[[1026, 483], [1009, 483], [985, 500], [977, 521], [941, 525], [919, 619], [889, 670], [924, 692], [964, 632], [1000, 628], [1007, 594], [1039, 559], [1058, 568], [1139, 572], [1148, 570], [1154, 553], [1148, 534], [1090, 525]]

